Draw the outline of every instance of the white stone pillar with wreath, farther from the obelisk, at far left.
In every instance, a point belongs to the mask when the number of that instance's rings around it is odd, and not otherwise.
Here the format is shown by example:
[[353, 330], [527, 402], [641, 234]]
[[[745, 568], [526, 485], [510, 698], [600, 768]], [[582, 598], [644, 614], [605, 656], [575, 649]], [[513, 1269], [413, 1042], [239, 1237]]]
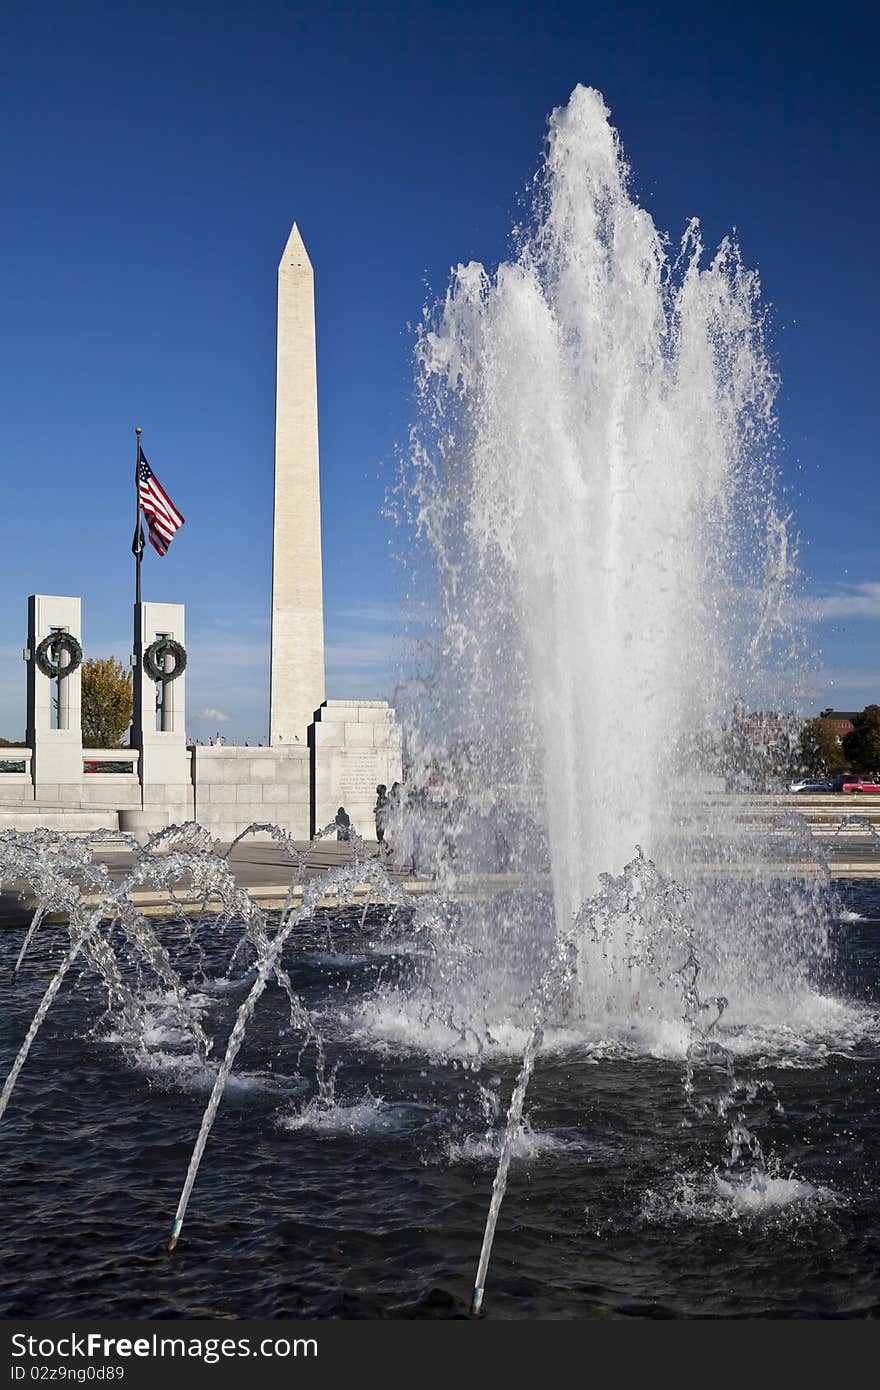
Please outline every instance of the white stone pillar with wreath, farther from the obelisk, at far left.
[[[63, 680], [46, 676], [36, 664], [36, 649], [53, 632], [68, 632], [82, 645], [81, 602], [50, 594], [28, 599], [28, 730], [33, 749], [31, 769], [38, 801], [71, 802], [82, 794], [82, 673]], [[63, 656], [61, 664], [70, 664]], [[56, 724], [54, 703], [58, 702]]]

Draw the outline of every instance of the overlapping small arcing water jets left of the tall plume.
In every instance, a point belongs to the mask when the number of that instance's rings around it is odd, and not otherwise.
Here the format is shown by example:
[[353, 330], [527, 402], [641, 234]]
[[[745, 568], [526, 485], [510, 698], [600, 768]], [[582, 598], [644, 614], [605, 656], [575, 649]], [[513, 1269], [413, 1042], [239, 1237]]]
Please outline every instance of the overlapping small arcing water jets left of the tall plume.
[[[324, 827], [316, 840], [335, 834], [335, 824]], [[293, 858], [288, 899], [274, 935], [270, 935], [266, 915], [247, 891], [236, 884], [228, 866], [228, 856], [235, 845], [246, 835], [260, 831], [267, 831], [274, 840], [284, 844]], [[246, 948], [250, 948], [256, 956], [257, 970], [238, 1011], [224, 1059], [214, 1074], [211, 1094], [178, 1202], [170, 1241], [170, 1248], [174, 1248], [247, 1023], [272, 977], [288, 997], [291, 1029], [299, 1031], [302, 1038], [299, 1059], [302, 1061], [307, 1048], [314, 1049], [317, 1101], [325, 1109], [334, 1105], [334, 1073], [327, 1073], [323, 1038], [282, 966], [282, 952], [289, 935], [295, 927], [314, 917], [318, 902], [328, 892], [335, 892], [345, 901], [366, 881], [368, 891], [380, 901], [405, 901], [406, 894], [389, 878], [385, 869], [373, 860], [370, 848], [359, 837], [352, 840], [353, 862], [331, 870], [323, 877], [306, 881], [299, 908], [293, 906], [293, 898], [304, 877], [314, 841], [306, 851], [300, 851], [291, 837], [277, 826], [250, 826], [232, 842], [225, 856], [214, 853], [213, 838], [203, 827], [195, 823], [168, 827], [153, 835], [143, 849], [136, 847], [135, 862], [120, 884], [115, 884], [107, 870], [92, 859], [90, 841], [103, 842], [107, 838], [106, 834], [74, 838], [51, 831], [21, 834], [6, 831], [0, 835], [0, 883], [24, 881], [36, 898], [36, 908], [15, 970], [18, 972], [21, 967], [26, 947], [49, 913], [64, 913], [68, 931], [68, 948], [38, 1005], [0, 1093], [0, 1118], [13, 1097], [39, 1029], [79, 956], [83, 956], [88, 965], [97, 972], [107, 988], [108, 1013], [113, 1019], [115, 1030], [113, 1036], [117, 1041], [133, 1049], [146, 1066], [167, 1063], [167, 1059], [157, 1062], [156, 1052], [152, 1051], [157, 1038], [165, 1038], [167, 1030], [156, 1030], [154, 1019], [146, 1008], [145, 986], [140, 979], [140, 972], [146, 967], [163, 990], [163, 999], [170, 1008], [184, 1044], [192, 1045], [193, 1061], [204, 1070], [213, 1041], [206, 1036], [199, 1009], [172, 966], [165, 947], [150, 922], [138, 912], [132, 894], [145, 884], [164, 890], [174, 920], [184, 926], [190, 944], [192, 923], [185, 910], [186, 906], [195, 903], [196, 915], [199, 915], [209, 901], [218, 902], [220, 913], [215, 929], [222, 933], [231, 923], [243, 923], [245, 929], [232, 951], [231, 965], [241, 959]], [[132, 969], [135, 972], [133, 988], [128, 983], [127, 967], [129, 972]], [[178, 1065], [181, 1065], [181, 1059], [178, 1059]], [[184, 1065], [186, 1065], [185, 1059]]]

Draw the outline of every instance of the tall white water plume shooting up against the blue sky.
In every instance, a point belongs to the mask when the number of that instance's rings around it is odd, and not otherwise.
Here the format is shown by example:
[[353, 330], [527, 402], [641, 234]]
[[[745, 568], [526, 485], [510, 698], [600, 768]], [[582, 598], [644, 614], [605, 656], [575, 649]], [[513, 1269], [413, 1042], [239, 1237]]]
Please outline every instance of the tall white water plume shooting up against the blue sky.
[[674, 866], [694, 733], [774, 694], [792, 569], [758, 277], [696, 221], [669, 252], [608, 117], [582, 86], [553, 111], [513, 259], [425, 314], [406, 484], [437, 575], [414, 763], [492, 788], [510, 860], [531, 813], [560, 924], [637, 844]]

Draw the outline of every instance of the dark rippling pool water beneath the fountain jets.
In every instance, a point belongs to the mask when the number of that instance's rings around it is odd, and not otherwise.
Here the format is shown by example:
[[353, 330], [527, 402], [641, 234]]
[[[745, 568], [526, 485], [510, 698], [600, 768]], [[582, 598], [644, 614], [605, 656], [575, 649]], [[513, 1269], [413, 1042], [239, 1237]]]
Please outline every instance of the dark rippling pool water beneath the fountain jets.
[[[542, 1055], [487, 1287], [495, 1318], [876, 1316], [880, 1312], [880, 891], [845, 884], [862, 920], [834, 927], [829, 1036], [756, 1044], [737, 1073], [772, 1083], [749, 1125], [776, 1177], [752, 1201], [719, 1186], [724, 1126], [684, 1104], [659, 1058]], [[268, 990], [220, 1109], [181, 1245], [164, 1245], [210, 1074], [154, 1040], [150, 1062], [108, 1041], [104, 995], [65, 986], [0, 1123], [6, 1316], [464, 1316], [495, 1170], [487, 1126], [516, 1059], [478, 1074], [353, 1041], [343, 1019], [412, 969], [378, 915], [303, 933], [285, 962], [338, 1063], [334, 1126], [285, 1127], [314, 1093], [310, 1056]], [[405, 926], [402, 930], [405, 931]], [[175, 959], [193, 987], [199, 954]], [[177, 933], [177, 937], [175, 937]], [[24, 1037], [65, 933], [24, 977], [0, 934], [0, 1063]], [[235, 937], [200, 933], [209, 980]], [[220, 1051], [246, 983], [204, 990]], [[484, 1093], [481, 1093], [484, 1087]], [[485, 1108], [488, 1106], [488, 1109]], [[489, 1116], [489, 1118], [487, 1118]], [[503, 1112], [502, 1112], [503, 1118]]]

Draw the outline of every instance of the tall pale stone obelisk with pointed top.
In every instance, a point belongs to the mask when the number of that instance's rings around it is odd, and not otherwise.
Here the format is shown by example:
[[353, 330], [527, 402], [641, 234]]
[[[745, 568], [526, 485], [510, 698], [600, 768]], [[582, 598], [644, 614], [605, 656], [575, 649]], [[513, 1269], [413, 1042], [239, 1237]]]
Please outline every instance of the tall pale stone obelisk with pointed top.
[[278, 265], [270, 744], [304, 746], [323, 701], [314, 275], [293, 222]]

